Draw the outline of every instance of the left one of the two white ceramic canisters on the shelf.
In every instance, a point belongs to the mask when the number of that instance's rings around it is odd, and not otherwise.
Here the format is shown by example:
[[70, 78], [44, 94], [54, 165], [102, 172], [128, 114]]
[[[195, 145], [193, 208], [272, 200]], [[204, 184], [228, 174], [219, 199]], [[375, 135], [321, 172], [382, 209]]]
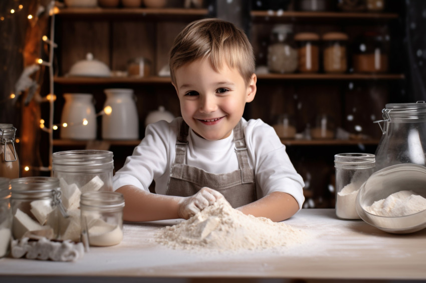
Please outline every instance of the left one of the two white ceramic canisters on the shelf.
[[[61, 138], [95, 139], [96, 112], [90, 93], [65, 93]], [[67, 126], [64, 126], [66, 123]]]

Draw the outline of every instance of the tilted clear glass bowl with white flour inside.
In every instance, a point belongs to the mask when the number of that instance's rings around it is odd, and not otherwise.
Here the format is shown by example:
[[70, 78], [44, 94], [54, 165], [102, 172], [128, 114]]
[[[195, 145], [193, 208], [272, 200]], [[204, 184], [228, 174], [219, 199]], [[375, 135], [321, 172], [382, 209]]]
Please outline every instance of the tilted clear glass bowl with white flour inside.
[[426, 227], [426, 167], [397, 164], [373, 173], [359, 188], [361, 219], [390, 233]]

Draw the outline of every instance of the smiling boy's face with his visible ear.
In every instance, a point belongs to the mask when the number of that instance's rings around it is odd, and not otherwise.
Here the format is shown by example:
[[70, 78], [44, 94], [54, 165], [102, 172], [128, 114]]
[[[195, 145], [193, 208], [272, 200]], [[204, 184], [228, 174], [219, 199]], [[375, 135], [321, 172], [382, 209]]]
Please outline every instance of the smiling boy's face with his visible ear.
[[208, 140], [228, 137], [256, 94], [255, 74], [246, 83], [236, 68], [224, 63], [218, 72], [205, 58], [179, 67], [175, 78], [183, 119]]

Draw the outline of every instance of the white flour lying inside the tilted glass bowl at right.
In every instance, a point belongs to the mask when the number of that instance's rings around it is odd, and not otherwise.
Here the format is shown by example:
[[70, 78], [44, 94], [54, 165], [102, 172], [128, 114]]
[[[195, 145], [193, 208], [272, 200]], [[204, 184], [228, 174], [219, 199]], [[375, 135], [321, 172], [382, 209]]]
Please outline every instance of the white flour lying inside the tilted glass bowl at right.
[[404, 216], [426, 209], [426, 198], [412, 190], [401, 190], [365, 206], [365, 211], [379, 216]]

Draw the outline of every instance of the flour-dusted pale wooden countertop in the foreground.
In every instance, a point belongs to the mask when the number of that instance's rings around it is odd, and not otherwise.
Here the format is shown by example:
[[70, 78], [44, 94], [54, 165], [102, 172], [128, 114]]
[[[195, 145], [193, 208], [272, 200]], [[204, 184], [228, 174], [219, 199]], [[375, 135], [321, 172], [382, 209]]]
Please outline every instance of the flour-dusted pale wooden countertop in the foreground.
[[40, 276], [57, 281], [58, 276], [89, 276], [104, 277], [102, 282], [117, 277], [120, 282], [132, 277], [426, 280], [426, 229], [390, 234], [362, 220], [340, 220], [334, 209], [302, 209], [285, 223], [312, 237], [280, 250], [190, 252], [150, 240], [164, 224], [177, 222], [126, 223], [120, 244], [91, 247], [76, 262], [3, 258], [0, 279], [4, 282], [2, 278]]

